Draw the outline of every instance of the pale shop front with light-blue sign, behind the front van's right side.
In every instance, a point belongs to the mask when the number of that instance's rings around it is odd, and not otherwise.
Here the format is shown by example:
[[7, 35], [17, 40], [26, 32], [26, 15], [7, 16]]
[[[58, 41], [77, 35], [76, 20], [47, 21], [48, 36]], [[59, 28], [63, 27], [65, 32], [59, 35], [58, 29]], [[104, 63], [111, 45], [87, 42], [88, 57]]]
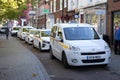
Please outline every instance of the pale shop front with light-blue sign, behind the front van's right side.
[[106, 5], [85, 8], [83, 11], [84, 22], [93, 25], [100, 34], [106, 34]]

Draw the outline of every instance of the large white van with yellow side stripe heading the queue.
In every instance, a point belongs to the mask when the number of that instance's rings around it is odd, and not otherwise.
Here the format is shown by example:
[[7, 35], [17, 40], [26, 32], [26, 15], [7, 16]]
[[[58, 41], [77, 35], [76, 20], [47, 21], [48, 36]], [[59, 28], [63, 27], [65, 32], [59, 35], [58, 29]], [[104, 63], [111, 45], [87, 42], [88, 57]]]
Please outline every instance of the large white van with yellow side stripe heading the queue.
[[50, 57], [69, 66], [107, 65], [111, 49], [89, 24], [60, 23], [51, 29]]

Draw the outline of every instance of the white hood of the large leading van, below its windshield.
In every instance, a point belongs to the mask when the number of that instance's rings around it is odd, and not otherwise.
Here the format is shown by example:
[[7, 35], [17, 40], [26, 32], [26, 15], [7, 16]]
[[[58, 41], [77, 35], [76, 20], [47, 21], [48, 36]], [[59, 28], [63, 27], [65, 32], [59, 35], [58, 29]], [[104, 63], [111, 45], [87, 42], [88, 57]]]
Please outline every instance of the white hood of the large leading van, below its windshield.
[[67, 41], [67, 44], [69, 46], [74, 46], [77, 48], [80, 48], [80, 50], [83, 51], [91, 51], [91, 50], [104, 50], [105, 46], [107, 46], [107, 43], [102, 40], [79, 40], [79, 41]]

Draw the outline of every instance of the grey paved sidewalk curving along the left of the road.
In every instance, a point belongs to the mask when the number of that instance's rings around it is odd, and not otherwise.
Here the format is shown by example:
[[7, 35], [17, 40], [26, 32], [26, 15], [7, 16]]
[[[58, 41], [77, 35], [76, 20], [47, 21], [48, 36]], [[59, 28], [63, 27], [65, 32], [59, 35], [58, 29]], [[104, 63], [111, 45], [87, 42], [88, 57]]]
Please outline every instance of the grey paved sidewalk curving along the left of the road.
[[16, 38], [0, 36], [0, 80], [50, 80], [37, 57]]

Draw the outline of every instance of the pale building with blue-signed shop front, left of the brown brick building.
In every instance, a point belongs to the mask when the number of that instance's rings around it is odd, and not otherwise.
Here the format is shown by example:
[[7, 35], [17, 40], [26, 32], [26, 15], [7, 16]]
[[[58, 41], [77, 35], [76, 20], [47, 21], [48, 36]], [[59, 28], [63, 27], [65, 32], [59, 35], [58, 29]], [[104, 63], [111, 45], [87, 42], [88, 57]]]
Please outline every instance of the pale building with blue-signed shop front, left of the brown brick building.
[[106, 34], [107, 0], [79, 0], [78, 9], [81, 23], [89, 23], [100, 34]]

